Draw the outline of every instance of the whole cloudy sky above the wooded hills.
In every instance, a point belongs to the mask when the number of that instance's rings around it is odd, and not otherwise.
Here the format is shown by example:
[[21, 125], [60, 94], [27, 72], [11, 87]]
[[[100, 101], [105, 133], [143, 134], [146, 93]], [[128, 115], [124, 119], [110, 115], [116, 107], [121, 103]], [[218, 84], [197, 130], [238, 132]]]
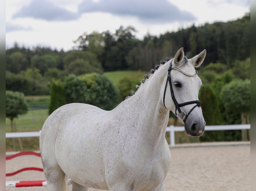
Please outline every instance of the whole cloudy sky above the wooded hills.
[[250, 0], [8, 0], [6, 48], [46, 46], [71, 50], [81, 34], [133, 26], [136, 38], [193, 24], [241, 18]]

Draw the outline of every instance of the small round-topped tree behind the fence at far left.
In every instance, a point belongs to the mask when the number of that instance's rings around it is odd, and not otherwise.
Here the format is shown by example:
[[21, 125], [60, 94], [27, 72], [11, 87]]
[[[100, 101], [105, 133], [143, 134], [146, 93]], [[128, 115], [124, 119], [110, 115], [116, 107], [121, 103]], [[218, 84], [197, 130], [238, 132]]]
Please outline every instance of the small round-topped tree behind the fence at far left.
[[[16, 125], [13, 125], [13, 119], [18, 115], [25, 114], [27, 112], [27, 103], [24, 98], [24, 94], [21, 92], [5, 91], [5, 116], [11, 120], [11, 130], [16, 132]], [[13, 149], [16, 150], [15, 139], [13, 141]], [[20, 149], [23, 150], [20, 138], [18, 139]]]

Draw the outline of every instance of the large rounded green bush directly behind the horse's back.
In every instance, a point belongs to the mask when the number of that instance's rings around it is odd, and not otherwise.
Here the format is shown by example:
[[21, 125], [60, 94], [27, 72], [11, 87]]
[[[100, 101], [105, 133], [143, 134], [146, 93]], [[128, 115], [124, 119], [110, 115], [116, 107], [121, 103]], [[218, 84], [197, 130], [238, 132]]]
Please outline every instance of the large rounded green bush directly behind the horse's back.
[[110, 110], [118, 102], [116, 87], [102, 74], [69, 75], [64, 80], [64, 88], [68, 103], [88, 103]]

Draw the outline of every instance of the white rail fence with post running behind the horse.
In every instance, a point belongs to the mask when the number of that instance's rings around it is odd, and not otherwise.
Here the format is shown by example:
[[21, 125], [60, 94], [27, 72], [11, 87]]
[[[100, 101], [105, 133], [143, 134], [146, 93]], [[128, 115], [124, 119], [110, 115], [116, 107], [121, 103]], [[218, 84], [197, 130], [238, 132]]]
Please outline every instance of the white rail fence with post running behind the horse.
[[[205, 127], [206, 131], [216, 131], [216, 130], [242, 130], [251, 129], [251, 124], [241, 124], [241, 125], [208, 125]], [[166, 132], [170, 132], [170, 145], [175, 145], [175, 131], [185, 131], [183, 126], [175, 127], [170, 125], [166, 128]], [[39, 137], [41, 131], [31, 131], [31, 132], [9, 132], [5, 133], [6, 138], [16, 138], [16, 137]]]

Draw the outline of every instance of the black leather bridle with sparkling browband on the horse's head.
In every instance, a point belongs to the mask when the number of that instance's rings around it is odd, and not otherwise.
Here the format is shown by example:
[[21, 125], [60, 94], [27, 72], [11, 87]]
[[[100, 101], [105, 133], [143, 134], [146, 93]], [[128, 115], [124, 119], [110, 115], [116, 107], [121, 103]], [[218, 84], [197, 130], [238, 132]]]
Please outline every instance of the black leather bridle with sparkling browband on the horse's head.
[[[165, 92], [166, 92], [166, 88], [167, 88], [167, 83], [169, 82], [170, 90], [171, 90], [171, 98], [172, 98], [173, 103], [174, 103], [174, 105], [175, 105], [175, 115], [178, 117], [179, 120], [185, 122], [186, 119], [187, 119], [187, 117], [188, 117], [188, 115], [191, 113], [191, 111], [192, 111], [193, 109], [195, 109], [197, 106], [198, 106], [198, 107], [201, 107], [201, 104], [200, 104], [200, 101], [199, 101], [199, 100], [196, 100], [196, 101], [187, 101], [187, 102], [178, 104], [178, 102], [177, 102], [177, 100], [176, 100], [176, 98], [175, 98], [175, 96], [174, 96], [173, 88], [172, 88], [172, 85], [171, 85], [171, 70], [175, 69], [175, 70], [179, 71], [180, 73], [182, 73], [182, 74], [184, 74], [184, 75], [186, 75], [186, 76], [189, 76], [189, 77], [195, 77], [195, 76], [197, 76], [197, 71], [196, 71], [196, 74], [195, 74], [195, 75], [186, 74], [185, 72], [181, 71], [181, 70], [178, 69], [178, 68], [171, 67], [171, 64], [172, 64], [172, 61], [171, 61], [170, 66], [169, 66], [169, 68], [168, 68], [168, 76], [167, 76], [167, 80], [166, 80], [166, 84], [165, 84], [165, 88], [164, 88], [164, 94], [163, 94], [163, 105], [165, 106], [165, 103], [164, 103]], [[194, 107], [192, 107], [192, 109], [190, 109], [190, 111], [189, 111], [187, 114], [186, 114], [185, 111], [180, 110], [180, 107], [185, 106], [185, 105], [189, 105], [189, 104], [194, 104], [194, 103], [196, 103], [196, 105], [195, 105]], [[165, 106], [165, 108], [166, 108], [166, 106]], [[166, 109], [167, 109], [167, 108], [166, 108]], [[177, 114], [177, 112], [176, 112], [177, 110], [178, 110], [178, 114]], [[184, 114], [184, 116], [183, 116], [182, 118], [179, 117], [179, 114], [180, 114], [180, 113], [183, 113], [183, 114]]]

